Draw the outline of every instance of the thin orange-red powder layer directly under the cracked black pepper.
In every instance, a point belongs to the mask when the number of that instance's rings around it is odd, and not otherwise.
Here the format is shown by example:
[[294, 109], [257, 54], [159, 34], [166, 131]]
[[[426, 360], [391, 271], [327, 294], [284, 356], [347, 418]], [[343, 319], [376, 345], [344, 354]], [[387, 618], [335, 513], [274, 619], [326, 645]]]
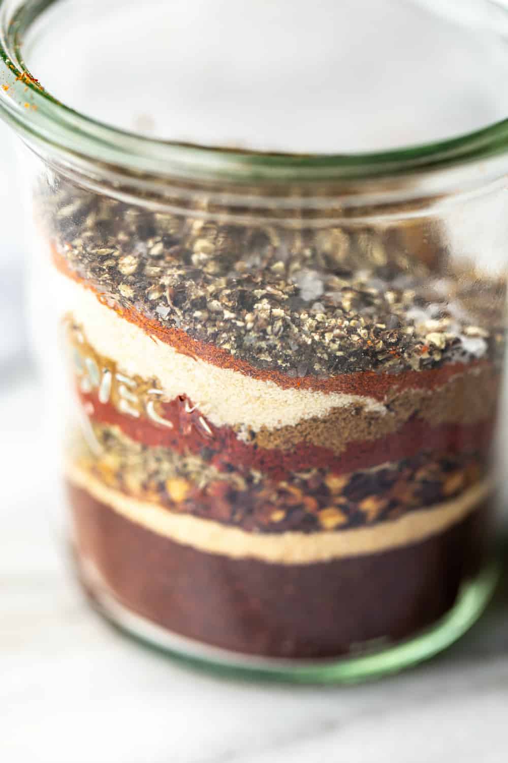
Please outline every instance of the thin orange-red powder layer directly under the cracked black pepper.
[[[228, 353], [227, 350], [221, 347], [193, 339], [192, 336], [182, 329], [163, 326], [158, 320], [143, 315], [135, 307], [126, 307], [118, 303], [112, 304], [110, 297], [97, 292], [90, 282], [85, 281], [78, 273], [69, 268], [68, 262], [54, 247], [53, 264], [63, 275], [72, 278], [73, 281], [84, 288], [90, 289], [101, 304], [116, 312], [123, 320], [136, 325], [148, 336], [156, 337], [159, 341], [168, 344], [178, 353], [190, 356], [193, 359], [206, 361], [221, 369], [236, 371], [244, 376], [256, 378], [260, 381], [273, 381], [283, 389], [342, 392], [343, 394], [356, 394], [383, 401], [388, 393], [392, 397], [404, 389], [432, 390], [442, 386], [452, 376], [464, 372], [466, 367], [464, 363], [457, 362], [447, 363], [439, 368], [425, 371], [403, 371], [397, 374], [363, 371], [338, 374], [330, 378], [319, 378], [312, 375], [292, 377], [280, 371], [257, 369], [247, 361], [235, 358], [235, 356], [232, 356], [231, 353]], [[490, 361], [475, 360], [468, 362], [467, 368], [482, 368], [486, 365], [490, 365]]]

